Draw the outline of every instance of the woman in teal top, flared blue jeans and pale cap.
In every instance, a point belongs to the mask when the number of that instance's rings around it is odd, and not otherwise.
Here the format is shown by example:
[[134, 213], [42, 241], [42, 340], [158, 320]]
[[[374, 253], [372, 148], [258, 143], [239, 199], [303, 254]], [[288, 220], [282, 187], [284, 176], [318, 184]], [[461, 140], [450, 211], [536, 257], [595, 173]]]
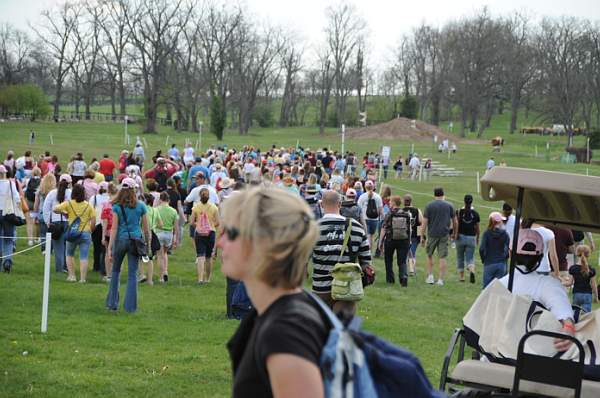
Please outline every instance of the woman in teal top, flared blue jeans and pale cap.
[[[145, 237], [150, 242], [150, 227], [146, 217], [146, 206], [136, 198], [137, 183], [132, 178], [125, 178], [121, 190], [113, 201], [113, 225], [110, 241], [106, 247], [106, 256], [112, 259], [112, 277], [106, 297], [106, 307], [111, 311], [119, 308], [119, 276], [121, 265], [127, 256], [127, 289], [125, 291], [124, 308], [127, 312], [137, 310], [137, 268], [139, 258], [131, 250], [130, 238]], [[140, 226], [141, 224], [141, 226]]]

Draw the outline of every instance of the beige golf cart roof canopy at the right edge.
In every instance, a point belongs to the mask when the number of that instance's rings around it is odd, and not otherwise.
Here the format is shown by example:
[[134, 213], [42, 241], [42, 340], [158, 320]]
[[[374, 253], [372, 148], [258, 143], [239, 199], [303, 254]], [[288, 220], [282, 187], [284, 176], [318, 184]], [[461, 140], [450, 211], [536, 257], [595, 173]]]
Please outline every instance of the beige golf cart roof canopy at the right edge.
[[481, 178], [481, 196], [517, 208], [522, 217], [581, 231], [600, 232], [600, 177], [556, 171], [494, 167]]

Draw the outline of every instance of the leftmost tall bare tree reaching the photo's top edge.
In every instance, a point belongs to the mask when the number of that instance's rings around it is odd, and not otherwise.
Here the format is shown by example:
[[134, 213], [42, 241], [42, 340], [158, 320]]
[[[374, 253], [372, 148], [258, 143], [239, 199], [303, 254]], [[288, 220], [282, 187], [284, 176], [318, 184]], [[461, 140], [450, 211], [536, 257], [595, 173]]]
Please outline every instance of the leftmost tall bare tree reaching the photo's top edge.
[[40, 41], [56, 63], [52, 76], [55, 83], [54, 119], [58, 120], [60, 101], [63, 94], [63, 84], [74, 60], [74, 52], [70, 51], [71, 36], [79, 19], [79, 7], [66, 2], [55, 10], [42, 12], [44, 24], [41, 29], [32, 26]]

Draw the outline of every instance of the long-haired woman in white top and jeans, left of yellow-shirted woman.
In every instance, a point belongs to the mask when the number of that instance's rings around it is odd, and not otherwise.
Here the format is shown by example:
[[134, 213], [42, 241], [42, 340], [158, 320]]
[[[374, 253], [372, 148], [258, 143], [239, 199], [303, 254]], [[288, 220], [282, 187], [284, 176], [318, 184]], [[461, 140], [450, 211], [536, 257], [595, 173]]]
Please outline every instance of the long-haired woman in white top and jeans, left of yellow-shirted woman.
[[[63, 174], [58, 179], [58, 188], [53, 189], [46, 195], [44, 199], [44, 222], [46, 228], [50, 228], [51, 224], [56, 224], [63, 231], [67, 229], [67, 218], [62, 214], [57, 214], [52, 211], [55, 206], [71, 199], [71, 176]], [[64, 232], [52, 239], [52, 248], [54, 250], [54, 268], [56, 272], [67, 272], [67, 261], [65, 258], [65, 234]]]

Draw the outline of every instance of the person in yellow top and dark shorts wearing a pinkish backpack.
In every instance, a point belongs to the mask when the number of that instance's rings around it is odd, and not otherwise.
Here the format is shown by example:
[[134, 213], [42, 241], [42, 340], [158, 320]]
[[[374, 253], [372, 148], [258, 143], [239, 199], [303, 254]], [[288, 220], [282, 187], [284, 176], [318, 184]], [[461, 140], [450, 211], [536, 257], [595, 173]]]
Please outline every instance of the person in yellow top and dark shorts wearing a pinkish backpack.
[[219, 209], [214, 203], [210, 203], [208, 188], [201, 188], [199, 195], [200, 201], [192, 208], [190, 225], [194, 228], [198, 285], [204, 285], [210, 282], [212, 274], [212, 260], [219, 227]]

